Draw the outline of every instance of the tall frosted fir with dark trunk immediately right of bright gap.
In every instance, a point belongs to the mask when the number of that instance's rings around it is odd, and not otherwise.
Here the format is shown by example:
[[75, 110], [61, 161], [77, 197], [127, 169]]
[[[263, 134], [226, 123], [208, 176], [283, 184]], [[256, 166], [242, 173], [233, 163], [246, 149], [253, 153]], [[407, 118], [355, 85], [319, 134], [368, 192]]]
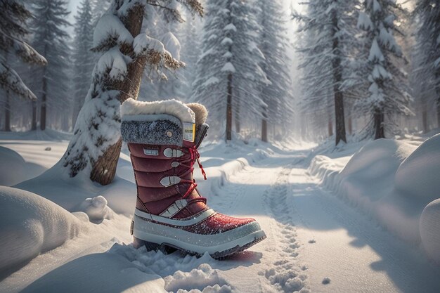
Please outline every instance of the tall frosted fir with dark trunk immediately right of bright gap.
[[[350, 53], [356, 46], [354, 14], [358, 1], [311, 0], [307, 2], [306, 15], [293, 13], [301, 21], [299, 32], [306, 34], [299, 45], [304, 70], [302, 78], [305, 110], [321, 110], [328, 115], [328, 108], [335, 112], [335, 144], [347, 142], [344, 117], [343, 82], [351, 75]], [[331, 122], [332, 119], [329, 118]], [[329, 134], [332, 125], [329, 122]]]

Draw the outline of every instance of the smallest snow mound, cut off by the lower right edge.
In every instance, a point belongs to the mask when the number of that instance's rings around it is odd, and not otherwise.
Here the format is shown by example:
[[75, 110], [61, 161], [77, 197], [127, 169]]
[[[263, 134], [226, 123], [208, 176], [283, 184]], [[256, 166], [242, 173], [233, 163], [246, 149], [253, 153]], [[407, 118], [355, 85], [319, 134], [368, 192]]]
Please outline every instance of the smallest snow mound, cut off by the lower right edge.
[[429, 203], [423, 210], [420, 237], [429, 258], [440, 263], [440, 198]]

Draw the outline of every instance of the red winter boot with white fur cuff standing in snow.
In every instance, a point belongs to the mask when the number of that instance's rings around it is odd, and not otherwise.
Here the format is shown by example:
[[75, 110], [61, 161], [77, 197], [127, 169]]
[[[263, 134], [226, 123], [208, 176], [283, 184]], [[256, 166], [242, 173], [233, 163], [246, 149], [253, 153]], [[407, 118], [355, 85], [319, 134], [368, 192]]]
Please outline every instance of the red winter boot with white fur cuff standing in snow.
[[204, 106], [129, 98], [121, 115], [138, 190], [131, 223], [135, 247], [208, 252], [218, 259], [266, 238], [257, 221], [217, 213], [196, 189], [195, 162], [205, 176], [198, 153], [208, 129]]

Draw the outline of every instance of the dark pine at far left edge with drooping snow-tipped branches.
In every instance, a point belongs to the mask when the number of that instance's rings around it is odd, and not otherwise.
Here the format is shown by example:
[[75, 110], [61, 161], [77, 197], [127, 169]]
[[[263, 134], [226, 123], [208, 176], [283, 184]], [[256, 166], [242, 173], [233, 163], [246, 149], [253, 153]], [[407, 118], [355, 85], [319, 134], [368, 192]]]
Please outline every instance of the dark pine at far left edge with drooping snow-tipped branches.
[[12, 57], [18, 56], [27, 64], [46, 65], [46, 59], [25, 41], [25, 37], [29, 34], [26, 20], [31, 16], [32, 14], [21, 1], [0, 0], [0, 87], [6, 93], [6, 131], [11, 130], [9, 110], [11, 93], [30, 100], [37, 99], [11, 67], [11, 64], [14, 64], [11, 62]]

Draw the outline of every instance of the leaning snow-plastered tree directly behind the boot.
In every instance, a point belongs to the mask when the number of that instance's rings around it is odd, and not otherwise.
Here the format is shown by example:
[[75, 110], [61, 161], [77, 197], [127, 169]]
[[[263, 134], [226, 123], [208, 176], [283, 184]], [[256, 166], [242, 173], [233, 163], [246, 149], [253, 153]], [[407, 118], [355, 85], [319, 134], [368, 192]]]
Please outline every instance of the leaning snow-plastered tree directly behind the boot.
[[[145, 8], [160, 6], [164, 17], [180, 20], [174, 3], [167, 0], [113, 0], [96, 25], [93, 50], [101, 58], [92, 73], [91, 86], [79, 111], [74, 136], [60, 163], [68, 176], [83, 174], [106, 185], [112, 182], [122, 146], [119, 106], [137, 98], [145, 67], [161, 72], [182, 66], [157, 39], [141, 32]], [[197, 0], [178, 0], [193, 13], [202, 15]], [[147, 20], [148, 21], [148, 20]]]

